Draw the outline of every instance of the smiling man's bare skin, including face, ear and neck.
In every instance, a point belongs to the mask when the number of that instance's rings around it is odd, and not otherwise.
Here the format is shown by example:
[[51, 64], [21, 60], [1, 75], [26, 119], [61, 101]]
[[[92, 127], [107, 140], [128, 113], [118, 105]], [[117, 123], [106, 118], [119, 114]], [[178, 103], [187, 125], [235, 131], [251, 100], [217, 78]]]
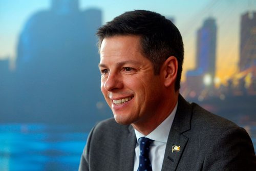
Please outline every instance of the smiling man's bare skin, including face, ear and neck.
[[132, 124], [147, 135], [173, 111], [178, 99], [174, 56], [164, 63], [165, 72], [155, 74], [152, 62], [141, 53], [139, 36], [113, 36], [102, 41], [99, 68], [101, 91], [117, 123]]

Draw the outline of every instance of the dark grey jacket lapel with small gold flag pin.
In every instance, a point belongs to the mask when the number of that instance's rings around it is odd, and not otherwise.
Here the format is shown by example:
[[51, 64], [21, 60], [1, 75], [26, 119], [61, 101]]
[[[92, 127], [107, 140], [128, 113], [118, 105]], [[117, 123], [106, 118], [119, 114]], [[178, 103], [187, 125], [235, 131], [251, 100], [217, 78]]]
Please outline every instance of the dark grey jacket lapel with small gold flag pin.
[[183, 135], [190, 130], [191, 109], [188, 102], [179, 95], [178, 108], [168, 136], [162, 170], [175, 170], [188, 138]]

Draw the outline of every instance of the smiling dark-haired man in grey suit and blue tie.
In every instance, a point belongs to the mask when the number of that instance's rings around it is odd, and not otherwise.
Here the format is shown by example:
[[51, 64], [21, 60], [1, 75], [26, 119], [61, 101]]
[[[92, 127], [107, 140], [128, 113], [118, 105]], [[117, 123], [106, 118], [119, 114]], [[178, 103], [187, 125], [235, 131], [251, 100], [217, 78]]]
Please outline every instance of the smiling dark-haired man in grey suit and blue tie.
[[179, 30], [150, 11], [99, 28], [101, 91], [114, 119], [91, 131], [79, 170], [252, 170], [249, 135], [179, 94]]

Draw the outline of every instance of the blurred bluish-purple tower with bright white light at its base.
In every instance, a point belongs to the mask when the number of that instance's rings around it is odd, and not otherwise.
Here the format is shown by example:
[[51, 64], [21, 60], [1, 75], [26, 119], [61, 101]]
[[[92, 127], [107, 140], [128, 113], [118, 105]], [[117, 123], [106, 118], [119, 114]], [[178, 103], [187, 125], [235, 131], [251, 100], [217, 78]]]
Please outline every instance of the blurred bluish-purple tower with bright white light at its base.
[[207, 87], [214, 88], [216, 72], [217, 25], [214, 18], [208, 18], [197, 31], [196, 69], [186, 73], [190, 91], [197, 96]]

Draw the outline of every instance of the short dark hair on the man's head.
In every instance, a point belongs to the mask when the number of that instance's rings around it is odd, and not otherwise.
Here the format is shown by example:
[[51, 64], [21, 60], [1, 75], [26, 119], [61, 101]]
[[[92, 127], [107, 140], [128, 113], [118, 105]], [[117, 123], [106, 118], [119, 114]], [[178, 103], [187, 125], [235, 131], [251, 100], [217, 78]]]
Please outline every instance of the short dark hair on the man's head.
[[155, 74], [159, 74], [163, 62], [169, 56], [175, 56], [178, 60], [175, 90], [180, 89], [183, 41], [179, 30], [169, 19], [152, 11], [125, 12], [98, 29], [99, 49], [105, 37], [115, 35], [140, 36], [142, 54], [153, 63]]

